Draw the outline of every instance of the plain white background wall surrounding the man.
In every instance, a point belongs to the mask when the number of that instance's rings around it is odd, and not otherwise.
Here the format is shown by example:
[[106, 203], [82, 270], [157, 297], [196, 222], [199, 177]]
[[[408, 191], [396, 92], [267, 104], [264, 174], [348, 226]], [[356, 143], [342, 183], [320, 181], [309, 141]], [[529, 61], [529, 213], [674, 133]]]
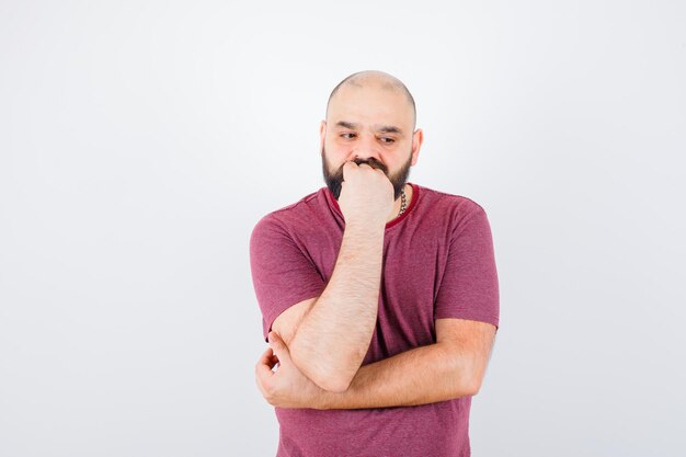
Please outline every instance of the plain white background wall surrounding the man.
[[491, 221], [475, 456], [685, 455], [686, 3], [248, 3], [0, 1], [0, 455], [275, 455], [250, 231], [364, 69]]

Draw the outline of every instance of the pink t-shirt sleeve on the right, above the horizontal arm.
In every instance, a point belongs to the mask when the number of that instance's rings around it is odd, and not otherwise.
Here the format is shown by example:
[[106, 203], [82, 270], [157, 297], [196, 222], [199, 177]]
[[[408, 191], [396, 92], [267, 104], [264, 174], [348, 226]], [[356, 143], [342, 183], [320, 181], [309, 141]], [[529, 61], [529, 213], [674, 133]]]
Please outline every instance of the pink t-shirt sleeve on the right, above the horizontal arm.
[[487, 214], [478, 205], [453, 230], [434, 318], [478, 320], [499, 327], [493, 239]]

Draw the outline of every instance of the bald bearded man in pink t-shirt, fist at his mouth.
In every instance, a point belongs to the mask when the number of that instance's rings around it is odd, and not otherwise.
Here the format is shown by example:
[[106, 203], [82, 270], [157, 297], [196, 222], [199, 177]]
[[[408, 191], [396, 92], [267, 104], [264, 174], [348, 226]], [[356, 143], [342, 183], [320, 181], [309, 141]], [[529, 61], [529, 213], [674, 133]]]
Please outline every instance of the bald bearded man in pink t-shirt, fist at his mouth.
[[277, 457], [470, 455], [499, 325], [493, 243], [477, 203], [407, 182], [415, 118], [395, 77], [344, 79], [320, 128], [327, 187], [253, 229]]

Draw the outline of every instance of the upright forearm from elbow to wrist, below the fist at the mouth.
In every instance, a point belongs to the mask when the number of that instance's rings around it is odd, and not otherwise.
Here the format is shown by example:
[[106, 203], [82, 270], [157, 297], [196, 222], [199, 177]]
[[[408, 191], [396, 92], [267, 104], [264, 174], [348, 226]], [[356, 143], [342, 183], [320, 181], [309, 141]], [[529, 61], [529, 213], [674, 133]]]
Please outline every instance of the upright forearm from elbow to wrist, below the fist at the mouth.
[[331, 279], [289, 343], [295, 364], [322, 388], [345, 390], [367, 353], [382, 251], [384, 226], [347, 226]]

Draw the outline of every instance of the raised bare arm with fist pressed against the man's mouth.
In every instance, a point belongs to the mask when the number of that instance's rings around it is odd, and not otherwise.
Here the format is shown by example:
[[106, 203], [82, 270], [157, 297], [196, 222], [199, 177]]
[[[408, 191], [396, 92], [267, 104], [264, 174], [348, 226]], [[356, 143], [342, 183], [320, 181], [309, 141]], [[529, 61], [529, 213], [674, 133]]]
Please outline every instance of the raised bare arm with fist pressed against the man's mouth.
[[[321, 296], [282, 313], [273, 329], [294, 363], [322, 389], [344, 391], [362, 365], [378, 313], [384, 230], [392, 185], [382, 171], [347, 163], [339, 204], [345, 231]], [[376, 195], [376, 196], [375, 196]]]

